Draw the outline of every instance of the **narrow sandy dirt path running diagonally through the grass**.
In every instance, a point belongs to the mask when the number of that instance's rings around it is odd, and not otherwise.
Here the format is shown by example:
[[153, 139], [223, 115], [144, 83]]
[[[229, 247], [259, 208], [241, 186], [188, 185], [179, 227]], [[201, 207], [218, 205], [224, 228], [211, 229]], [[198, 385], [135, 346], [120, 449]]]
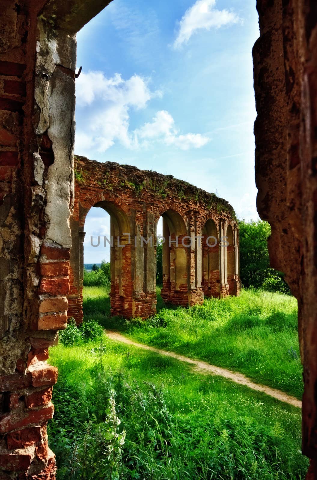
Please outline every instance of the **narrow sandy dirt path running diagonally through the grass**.
[[144, 348], [145, 350], [151, 350], [152, 352], [159, 353], [160, 355], [166, 355], [167, 357], [173, 357], [174, 359], [185, 361], [187, 363], [191, 363], [194, 365], [194, 369], [196, 372], [210, 372], [214, 375], [220, 375], [221, 377], [228, 378], [235, 382], [236, 384], [246, 385], [253, 390], [257, 390], [259, 392], [264, 392], [266, 395], [273, 396], [277, 398], [281, 402], [288, 403], [293, 405], [294, 407], [302, 408], [302, 402], [297, 400], [294, 396], [287, 395], [280, 390], [276, 390], [275, 388], [270, 388], [265, 385], [254, 384], [248, 377], [242, 375], [242, 373], [234, 373], [230, 372], [230, 370], [226, 370], [225, 368], [216, 367], [215, 365], [210, 365], [201, 360], [192, 360], [188, 357], [184, 357], [183, 355], [179, 355], [178, 353], [168, 352], [166, 350], [160, 350], [159, 348], [149, 347], [148, 345], [143, 345], [141, 343], [134, 342], [129, 338], [119, 334], [118, 332], [114, 332], [111, 330], [106, 330], [106, 334], [112, 340], [117, 340], [119, 342], [126, 343], [127, 345], [134, 345], [135, 347]]

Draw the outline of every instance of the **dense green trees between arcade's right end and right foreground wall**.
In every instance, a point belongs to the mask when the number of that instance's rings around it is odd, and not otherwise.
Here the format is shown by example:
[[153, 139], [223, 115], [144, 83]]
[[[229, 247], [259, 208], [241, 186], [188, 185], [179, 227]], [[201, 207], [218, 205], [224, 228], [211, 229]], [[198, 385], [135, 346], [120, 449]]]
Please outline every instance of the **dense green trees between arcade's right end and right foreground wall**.
[[244, 287], [290, 294], [284, 274], [270, 267], [267, 248], [270, 234], [271, 227], [264, 220], [239, 220], [241, 282]]

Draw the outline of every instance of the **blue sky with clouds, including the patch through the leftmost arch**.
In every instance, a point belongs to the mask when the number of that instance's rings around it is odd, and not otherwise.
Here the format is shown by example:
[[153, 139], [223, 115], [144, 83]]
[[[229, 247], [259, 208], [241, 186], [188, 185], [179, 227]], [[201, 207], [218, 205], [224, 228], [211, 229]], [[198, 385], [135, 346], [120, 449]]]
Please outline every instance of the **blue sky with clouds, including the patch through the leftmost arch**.
[[[255, 0], [114, 0], [77, 34], [75, 152], [152, 169], [257, 219], [252, 47]], [[110, 235], [92, 208], [85, 262]]]

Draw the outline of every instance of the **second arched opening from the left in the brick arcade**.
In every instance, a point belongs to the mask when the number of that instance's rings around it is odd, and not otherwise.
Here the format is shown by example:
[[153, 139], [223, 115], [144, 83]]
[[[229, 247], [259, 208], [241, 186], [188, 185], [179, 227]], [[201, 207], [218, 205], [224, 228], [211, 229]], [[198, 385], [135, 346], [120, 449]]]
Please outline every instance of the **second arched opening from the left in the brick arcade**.
[[176, 305], [188, 304], [188, 258], [190, 238], [181, 215], [166, 210], [163, 218], [162, 299]]

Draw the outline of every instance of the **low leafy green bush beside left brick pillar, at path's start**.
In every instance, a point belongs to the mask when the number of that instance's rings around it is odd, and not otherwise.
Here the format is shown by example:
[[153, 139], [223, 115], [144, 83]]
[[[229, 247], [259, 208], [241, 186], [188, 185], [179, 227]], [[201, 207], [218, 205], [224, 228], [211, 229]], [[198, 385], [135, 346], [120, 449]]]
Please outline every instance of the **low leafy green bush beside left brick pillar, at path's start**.
[[91, 340], [99, 340], [102, 336], [103, 328], [94, 320], [83, 322], [77, 327], [75, 319], [71, 317], [68, 320], [65, 330], [59, 333], [59, 339], [63, 345], [73, 347], [80, 343], [87, 343]]

